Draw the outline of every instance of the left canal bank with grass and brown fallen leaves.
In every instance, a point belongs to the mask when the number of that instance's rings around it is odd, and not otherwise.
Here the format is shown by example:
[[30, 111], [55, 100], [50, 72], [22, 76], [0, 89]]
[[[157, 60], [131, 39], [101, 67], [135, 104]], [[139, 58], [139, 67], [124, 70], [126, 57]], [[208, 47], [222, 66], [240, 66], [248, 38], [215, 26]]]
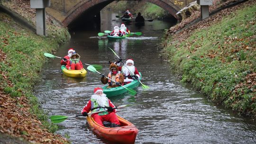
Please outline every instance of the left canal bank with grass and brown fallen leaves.
[[[36, 143], [65, 143], [48, 122], [33, 95], [33, 86], [46, 63], [44, 53], [51, 53], [68, 41], [65, 28], [48, 27], [48, 36], [37, 36], [14, 19], [0, 13], [0, 131]], [[54, 28], [54, 30], [49, 30]], [[40, 121], [38, 121], [40, 120]]]

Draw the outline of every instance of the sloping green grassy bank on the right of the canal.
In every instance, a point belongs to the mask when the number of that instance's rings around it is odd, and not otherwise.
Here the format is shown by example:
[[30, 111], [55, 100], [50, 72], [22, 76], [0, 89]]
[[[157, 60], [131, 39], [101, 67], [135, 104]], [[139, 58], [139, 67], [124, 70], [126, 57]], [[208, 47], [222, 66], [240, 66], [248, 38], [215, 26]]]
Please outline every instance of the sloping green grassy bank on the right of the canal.
[[[249, 0], [166, 39], [183, 82], [239, 114], [256, 117], [256, 4]], [[186, 35], [186, 36], [185, 36]]]

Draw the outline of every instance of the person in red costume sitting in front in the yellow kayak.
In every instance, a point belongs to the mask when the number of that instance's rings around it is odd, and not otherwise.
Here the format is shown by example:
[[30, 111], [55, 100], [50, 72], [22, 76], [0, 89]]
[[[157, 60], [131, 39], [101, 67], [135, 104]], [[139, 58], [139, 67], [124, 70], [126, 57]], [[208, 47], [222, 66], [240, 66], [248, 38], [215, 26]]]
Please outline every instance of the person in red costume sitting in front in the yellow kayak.
[[72, 54], [70, 57], [66, 68], [68, 70], [82, 70], [83, 65], [82, 62], [80, 61], [80, 55], [79, 54]]

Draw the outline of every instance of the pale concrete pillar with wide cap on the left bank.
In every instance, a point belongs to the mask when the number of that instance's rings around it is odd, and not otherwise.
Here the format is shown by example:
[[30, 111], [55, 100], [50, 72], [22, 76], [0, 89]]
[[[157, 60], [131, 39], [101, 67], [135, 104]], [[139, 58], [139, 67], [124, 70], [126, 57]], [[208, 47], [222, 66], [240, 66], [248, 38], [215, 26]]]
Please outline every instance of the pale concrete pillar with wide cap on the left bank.
[[37, 35], [46, 36], [46, 7], [50, 6], [50, 0], [30, 0], [30, 8], [36, 9]]

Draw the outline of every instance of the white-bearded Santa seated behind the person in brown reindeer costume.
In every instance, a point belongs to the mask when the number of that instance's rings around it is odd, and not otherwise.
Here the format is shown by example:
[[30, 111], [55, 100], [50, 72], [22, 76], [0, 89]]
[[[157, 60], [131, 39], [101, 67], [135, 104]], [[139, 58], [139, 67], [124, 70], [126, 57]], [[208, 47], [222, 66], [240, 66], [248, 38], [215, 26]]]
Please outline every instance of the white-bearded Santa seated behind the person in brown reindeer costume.
[[[119, 66], [120, 61], [117, 61], [115, 63], [117, 63], [117, 65]], [[128, 59], [126, 61], [126, 65], [127, 67], [125, 65], [123, 65], [122, 67], [119, 66], [119, 71], [121, 71], [121, 73], [124, 75], [124, 83], [128, 84], [134, 80], [138, 80], [140, 78], [140, 75], [137, 68], [134, 66], [133, 59]], [[134, 73], [134, 75], [130, 71]]]

